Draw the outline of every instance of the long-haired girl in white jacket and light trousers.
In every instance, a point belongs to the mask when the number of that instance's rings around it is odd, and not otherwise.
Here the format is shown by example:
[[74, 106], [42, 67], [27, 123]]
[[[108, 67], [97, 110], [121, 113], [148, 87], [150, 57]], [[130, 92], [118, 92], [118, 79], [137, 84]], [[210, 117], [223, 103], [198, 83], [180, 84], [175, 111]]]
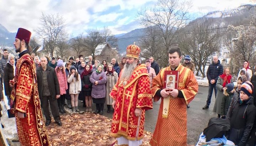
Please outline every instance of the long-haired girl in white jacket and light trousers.
[[76, 71], [75, 66], [70, 67], [70, 73], [68, 75], [69, 83], [69, 94], [71, 96], [71, 105], [73, 112], [79, 112], [78, 109], [78, 96], [81, 92], [81, 78], [78, 72]]

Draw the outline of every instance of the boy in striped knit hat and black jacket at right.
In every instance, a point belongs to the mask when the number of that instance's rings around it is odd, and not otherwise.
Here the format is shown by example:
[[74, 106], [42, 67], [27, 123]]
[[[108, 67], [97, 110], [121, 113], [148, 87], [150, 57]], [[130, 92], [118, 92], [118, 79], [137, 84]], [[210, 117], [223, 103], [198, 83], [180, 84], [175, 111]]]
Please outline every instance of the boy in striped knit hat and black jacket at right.
[[256, 107], [253, 103], [252, 83], [246, 81], [241, 86], [240, 97], [233, 103], [230, 114], [228, 140], [238, 146], [245, 146], [250, 140], [250, 132], [255, 120]]

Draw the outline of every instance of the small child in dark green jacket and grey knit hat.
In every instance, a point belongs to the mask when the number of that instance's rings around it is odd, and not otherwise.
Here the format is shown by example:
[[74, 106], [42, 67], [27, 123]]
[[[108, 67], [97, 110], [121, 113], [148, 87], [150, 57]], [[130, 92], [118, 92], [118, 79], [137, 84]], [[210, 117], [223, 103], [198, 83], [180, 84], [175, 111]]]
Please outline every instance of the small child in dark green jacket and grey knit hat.
[[220, 105], [220, 115], [222, 116], [222, 119], [226, 118], [226, 114], [228, 113], [228, 108], [230, 106], [230, 102], [234, 95], [234, 92], [234, 85], [232, 83], [228, 83], [223, 91], [224, 97], [222, 98], [222, 103]]

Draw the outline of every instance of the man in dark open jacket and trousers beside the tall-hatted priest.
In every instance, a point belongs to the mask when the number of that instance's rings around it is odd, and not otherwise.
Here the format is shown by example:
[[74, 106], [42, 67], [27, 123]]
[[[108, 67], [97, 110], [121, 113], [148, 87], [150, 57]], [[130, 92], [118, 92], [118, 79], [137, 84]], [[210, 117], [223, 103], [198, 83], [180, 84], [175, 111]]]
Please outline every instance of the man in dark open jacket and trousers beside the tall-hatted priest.
[[40, 63], [41, 66], [37, 69], [37, 84], [43, 112], [46, 117], [45, 124], [46, 126], [50, 125], [52, 120], [49, 112], [49, 101], [55, 122], [62, 126], [57, 102], [57, 98], [60, 97], [60, 88], [55, 69], [47, 65], [46, 57], [42, 57]]

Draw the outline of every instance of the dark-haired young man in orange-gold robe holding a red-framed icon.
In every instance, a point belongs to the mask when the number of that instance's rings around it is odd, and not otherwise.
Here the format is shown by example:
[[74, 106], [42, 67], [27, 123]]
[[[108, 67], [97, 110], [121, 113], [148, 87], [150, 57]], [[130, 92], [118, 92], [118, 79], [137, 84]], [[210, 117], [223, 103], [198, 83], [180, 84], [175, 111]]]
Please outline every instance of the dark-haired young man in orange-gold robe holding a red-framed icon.
[[[198, 92], [198, 83], [193, 72], [180, 64], [182, 59], [179, 47], [168, 51], [170, 66], [162, 69], [153, 79], [151, 92], [154, 101], [161, 98], [158, 120], [150, 145], [186, 146], [187, 145], [187, 107]], [[165, 71], [178, 71], [178, 87], [163, 87]], [[164, 110], [163, 110], [164, 109]]]

